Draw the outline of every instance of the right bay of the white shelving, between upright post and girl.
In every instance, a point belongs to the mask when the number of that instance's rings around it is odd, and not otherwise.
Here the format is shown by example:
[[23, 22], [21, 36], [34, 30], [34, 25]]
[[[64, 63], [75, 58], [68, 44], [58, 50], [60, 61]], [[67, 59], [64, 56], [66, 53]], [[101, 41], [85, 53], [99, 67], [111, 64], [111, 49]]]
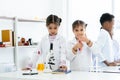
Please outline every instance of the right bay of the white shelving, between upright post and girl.
[[[16, 21], [16, 65], [18, 68], [24, 68], [29, 57], [32, 56], [37, 48], [45, 27], [45, 21], [30, 20], [30, 19], [17, 19]], [[47, 31], [46, 31], [47, 32]], [[25, 38], [25, 43], [31, 39], [32, 45], [19, 46], [18, 42], [21, 38]]]

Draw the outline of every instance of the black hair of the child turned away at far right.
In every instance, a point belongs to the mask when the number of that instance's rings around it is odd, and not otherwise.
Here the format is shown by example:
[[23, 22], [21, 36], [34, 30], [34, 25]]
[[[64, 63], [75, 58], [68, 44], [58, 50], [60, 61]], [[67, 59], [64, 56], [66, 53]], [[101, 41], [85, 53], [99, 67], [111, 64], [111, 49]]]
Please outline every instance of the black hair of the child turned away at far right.
[[113, 18], [114, 18], [114, 15], [109, 14], [109, 13], [104, 13], [100, 17], [100, 23], [101, 23], [101, 25], [103, 25], [104, 22], [106, 22], [106, 21], [110, 22], [110, 21], [112, 21]]

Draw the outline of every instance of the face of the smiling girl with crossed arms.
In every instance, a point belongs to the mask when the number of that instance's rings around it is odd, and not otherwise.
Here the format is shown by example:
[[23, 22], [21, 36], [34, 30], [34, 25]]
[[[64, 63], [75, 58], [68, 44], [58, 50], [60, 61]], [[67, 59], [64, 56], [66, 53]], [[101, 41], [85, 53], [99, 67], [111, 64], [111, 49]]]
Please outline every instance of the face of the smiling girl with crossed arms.
[[77, 26], [76, 28], [74, 28], [73, 33], [75, 37], [79, 39], [80, 37], [85, 36], [85, 27]]

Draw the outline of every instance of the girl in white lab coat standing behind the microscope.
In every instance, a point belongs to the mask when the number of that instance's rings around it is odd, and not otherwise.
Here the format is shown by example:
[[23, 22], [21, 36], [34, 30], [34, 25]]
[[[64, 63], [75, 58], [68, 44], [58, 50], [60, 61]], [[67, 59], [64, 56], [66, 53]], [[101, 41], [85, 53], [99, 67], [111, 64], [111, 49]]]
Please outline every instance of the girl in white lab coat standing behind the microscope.
[[[36, 64], [38, 58], [43, 58], [46, 63], [46, 57], [52, 48], [53, 56], [49, 59], [50, 69], [66, 70], [66, 42], [65, 39], [58, 34], [58, 29], [61, 23], [61, 18], [56, 15], [49, 15], [46, 20], [46, 26], [49, 34], [44, 36], [38, 47], [38, 54], [32, 59], [32, 62], [27, 65], [28, 69]], [[52, 46], [51, 46], [52, 44]]]

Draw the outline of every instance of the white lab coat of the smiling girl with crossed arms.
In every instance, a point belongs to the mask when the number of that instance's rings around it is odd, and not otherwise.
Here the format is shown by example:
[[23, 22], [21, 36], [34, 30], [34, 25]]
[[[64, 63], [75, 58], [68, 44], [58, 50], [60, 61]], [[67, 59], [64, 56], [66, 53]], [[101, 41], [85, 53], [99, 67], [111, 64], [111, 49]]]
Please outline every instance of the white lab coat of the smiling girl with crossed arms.
[[92, 61], [92, 53], [90, 48], [83, 43], [83, 48], [81, 51], [77, 51], [75, 55], [72, 52], [73, 46], [77, 43], [77, 40], [74, 38], [72, 41], [68, 43], [67, 49], [67, 59], [70, 61], [70, 69], [71, 70], [80, 70], [80, 71], [89, 71], [90, 67], [93, 66]]

